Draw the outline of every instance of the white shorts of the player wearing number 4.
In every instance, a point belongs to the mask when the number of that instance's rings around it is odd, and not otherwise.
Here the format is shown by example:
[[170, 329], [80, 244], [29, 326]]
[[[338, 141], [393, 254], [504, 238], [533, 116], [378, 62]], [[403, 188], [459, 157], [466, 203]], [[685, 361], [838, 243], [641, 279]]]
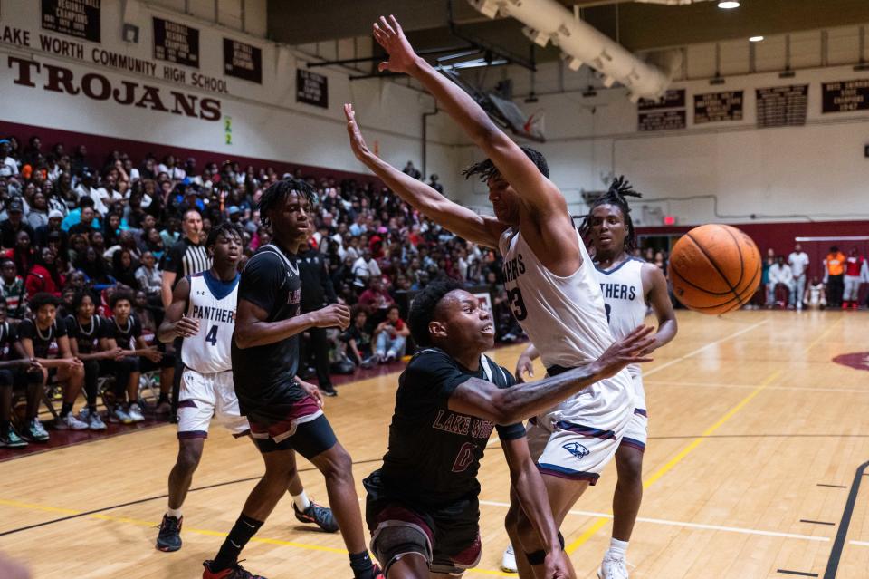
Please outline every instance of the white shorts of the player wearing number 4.
[[233, 372], [202, 374], [185, 368], [178, 395], [178, 438], [205, 439], [212, 418], [223, 423], [235, 437], [250, 429], [238, 410]]

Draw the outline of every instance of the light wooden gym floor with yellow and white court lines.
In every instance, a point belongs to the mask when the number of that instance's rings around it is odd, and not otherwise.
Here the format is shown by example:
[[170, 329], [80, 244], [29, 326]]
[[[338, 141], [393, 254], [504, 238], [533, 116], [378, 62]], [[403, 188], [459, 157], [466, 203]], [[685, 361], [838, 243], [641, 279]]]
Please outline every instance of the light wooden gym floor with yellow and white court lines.
[[[679, 315], [679, 336], [645, 369], [650, 440], [631, 576], [869, 576], [869, 374], [832, 362], [869, 350], [869, 315]], [[493, 355], [512, 368], [521, 347]], [[327, 400], [357, 483], [386, 448], [395, 388], [396, 374], [381, 376]], [[497, 442], [490, 447], [483, 555], [469, 578], [515, 576], [498, 570], [509, 478]], [[167, 425], [0, 463], [0, 551], [38, 579], [199, 576], [262, 461], [214, 425], [185, 505], [184, 548], [165, 554], [153, 544], [176, 448]], [[309, 495], [325, 499], [319, 474], [300, 466]], [[595, 576], [608, 545], [615, 482], [610, 465], [562, 527], [580, 577]], [[269, 579], [349, 576], [340, 537], [298, 524], [289, 497], [243, 555]]]

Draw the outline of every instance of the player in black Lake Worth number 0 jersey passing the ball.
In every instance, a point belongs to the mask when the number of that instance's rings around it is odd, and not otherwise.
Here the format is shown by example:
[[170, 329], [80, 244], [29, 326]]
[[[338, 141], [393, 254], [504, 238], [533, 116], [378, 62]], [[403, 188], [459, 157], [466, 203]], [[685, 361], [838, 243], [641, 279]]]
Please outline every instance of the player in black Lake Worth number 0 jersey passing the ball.
[[542, 576], [573, 577], [521, 420], [646, 362], [639, 354], [652, 329], [636, 329], [581, 368], [513, 387], [511, 373], [484, 355], [494, 343], [492, 318], [460, 282], [438, 279], [416, 294], [409, 325], [423, 349], [398, 379], [383, 466], [364, 481], [371, 548], [387, 579], [456, 577], [477, 564], [477, 471], [493, 428], [515, 496], [546, 545], [535, 555]]

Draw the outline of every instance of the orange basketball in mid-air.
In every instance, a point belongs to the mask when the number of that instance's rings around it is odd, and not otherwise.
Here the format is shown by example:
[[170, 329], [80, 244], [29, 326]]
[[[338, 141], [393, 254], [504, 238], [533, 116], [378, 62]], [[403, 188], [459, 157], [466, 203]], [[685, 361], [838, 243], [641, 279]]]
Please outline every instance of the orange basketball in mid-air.
[[747, 304], [757, 291], [760, 252], [736, 227], [694, 227], [673, 246], [667, 276], [685, 307], [725, 314]]

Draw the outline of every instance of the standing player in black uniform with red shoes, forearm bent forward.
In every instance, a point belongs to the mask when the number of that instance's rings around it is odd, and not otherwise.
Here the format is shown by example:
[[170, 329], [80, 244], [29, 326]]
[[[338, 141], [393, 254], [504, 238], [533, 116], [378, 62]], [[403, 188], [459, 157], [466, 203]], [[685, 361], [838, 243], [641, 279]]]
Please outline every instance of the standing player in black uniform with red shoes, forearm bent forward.
[[203, 579], [262, 579], [238, 565], [238, 555], [272, 513], [296, 474], [298, 452], [326, 478], [329, 506], [347, 545], [355, 579], [382, 576], [365, 545], [352, 461], [320, 410], [316, 388], [295, 379], [299, 334], [312, 327], [350, 322], [346, 305], [331, 304], [300, 314], [301, 280], [293, 256], [308, 236], [313, 189], [298, 179], [272, 183], [260, 199], [263, 226], [273, 244], [247, 262], [238, 289], [232, 343], [233, 381], [251, 436], [263, 454], [265, 475], [253, 488], [224, 545], [205, 561]]

